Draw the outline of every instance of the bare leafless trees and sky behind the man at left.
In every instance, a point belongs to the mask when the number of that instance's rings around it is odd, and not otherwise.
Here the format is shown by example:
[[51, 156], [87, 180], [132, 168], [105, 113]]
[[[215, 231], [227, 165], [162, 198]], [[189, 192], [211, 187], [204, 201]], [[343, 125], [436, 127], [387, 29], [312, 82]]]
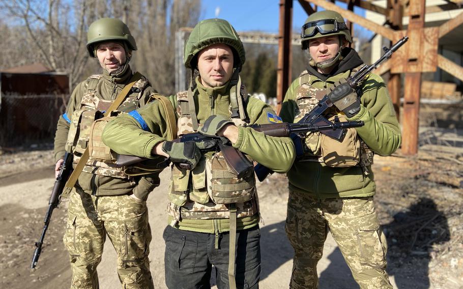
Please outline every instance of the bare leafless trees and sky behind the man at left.
[[74, 87], [99, 69], [89, 62], [85, 47], [90, 23], [114, 17], [136, 39], [132, 67], [147, 75], [158, 91], [173, 93], [175, 31], [194, 25], [199, 13], [200, 0], [0, 0], [0, 19], [8, 21], [0, 22], [0, 48], [11, 52], [0, 66], [42, 62], [68, 72]]

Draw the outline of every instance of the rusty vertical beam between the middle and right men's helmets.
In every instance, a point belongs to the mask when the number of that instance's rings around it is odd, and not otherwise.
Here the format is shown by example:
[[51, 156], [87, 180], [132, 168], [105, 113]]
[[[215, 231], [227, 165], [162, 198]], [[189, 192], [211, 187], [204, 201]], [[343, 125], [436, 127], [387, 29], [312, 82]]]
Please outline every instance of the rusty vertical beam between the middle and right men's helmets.
[[293, 0], [280, 0], [280, 24], [278, 29], [277, 112], [291, 81], [291, 28]]

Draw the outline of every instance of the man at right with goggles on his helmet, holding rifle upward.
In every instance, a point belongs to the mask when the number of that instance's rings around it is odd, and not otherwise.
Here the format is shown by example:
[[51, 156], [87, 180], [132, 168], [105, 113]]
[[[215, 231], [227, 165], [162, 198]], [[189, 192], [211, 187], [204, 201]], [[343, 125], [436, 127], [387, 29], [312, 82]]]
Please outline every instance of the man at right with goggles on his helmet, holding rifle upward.
[[[352, 38], [337, 12], [310, 15], [301, 36], [310, 61], [286, 92], [280, 111], [285, 122], [299, 121], [363, 64], [348, 47]], [[400, 128], [386, 85], [378, 75], [369, 74], [343, 100], [346, 103], [336, 102], [325, 117], [363, 121], [365, 125], [348, 129], [342, 142], [307, 133], [302, 139], [303, 151], [287, 173], [290, 194], [285, 228], [295, 250], [291, 288], [318, 286], [316, 265], [328, 229], [361, 288], [392, 288], [386, 273], [386, 239], [373, 207], [371, 164], [374, 153], [386, 156], [397, 150]]]

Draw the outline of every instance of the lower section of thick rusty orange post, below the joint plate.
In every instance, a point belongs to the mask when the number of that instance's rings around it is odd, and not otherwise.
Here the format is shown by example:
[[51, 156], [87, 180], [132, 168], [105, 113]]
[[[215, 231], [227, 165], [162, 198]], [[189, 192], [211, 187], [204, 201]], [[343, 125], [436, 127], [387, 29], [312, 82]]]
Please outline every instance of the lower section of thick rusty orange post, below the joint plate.
[[404, 155], [415, 155], [418, 152], [420, 88], [421, 73], [407, 73], [402, 114], [402, 153]]

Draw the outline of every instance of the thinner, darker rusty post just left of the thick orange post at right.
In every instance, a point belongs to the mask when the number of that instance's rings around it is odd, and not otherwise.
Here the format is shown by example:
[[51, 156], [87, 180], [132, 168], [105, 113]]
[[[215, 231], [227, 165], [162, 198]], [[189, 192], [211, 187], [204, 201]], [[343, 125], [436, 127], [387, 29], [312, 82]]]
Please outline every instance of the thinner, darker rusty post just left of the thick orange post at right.
[[[394, 30], [402, 30], [402, 16], [403, 9], [399, 0], [388, 0], [387, 8], [389, 9], [388, 20], [391, 28]], [[391, 41], [392, 44], [392, 41]], [[400, 88], [401, 88], [400, 74], [389, 73], [388, 90], [391, 95], [392, 104], [394, 105], [395, 115], [400, 121]]]

